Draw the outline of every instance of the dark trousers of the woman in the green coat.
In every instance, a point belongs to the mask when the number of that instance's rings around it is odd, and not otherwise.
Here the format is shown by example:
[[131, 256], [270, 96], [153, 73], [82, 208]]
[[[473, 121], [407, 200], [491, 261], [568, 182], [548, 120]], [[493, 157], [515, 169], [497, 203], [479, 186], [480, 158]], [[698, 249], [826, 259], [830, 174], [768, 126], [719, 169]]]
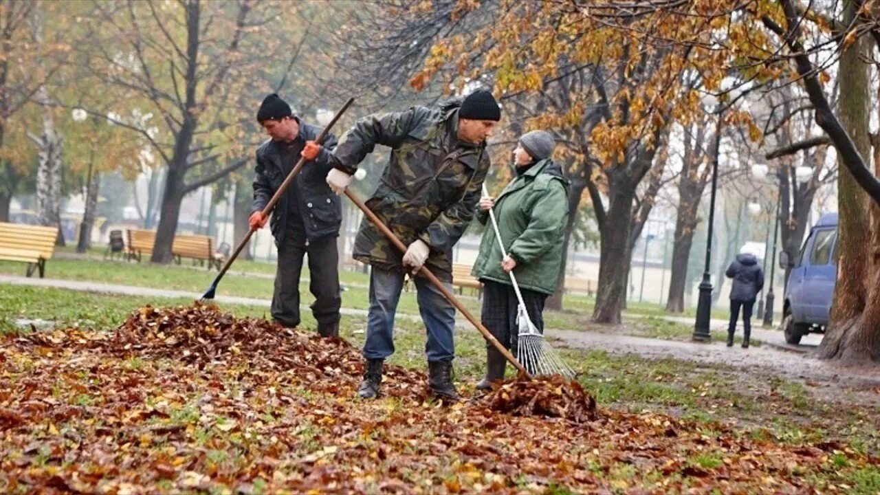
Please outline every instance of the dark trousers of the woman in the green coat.
[[[517, 336], [519, 325], [517, 314], [519, 313], [519, 301], [517, 292], [513, 291], [512, 285], [499, 284], [491, 280], [483, 280], [483, 308], [480, 321], [492, 335], [498, 339], [504, 347], [517, 355]], [[520, 288], [525, 303], [525, 312], [529, 314], [535, 327], [544, 333], [544, 301], [547, 295], [542, 292], [529, 291]], [[493, 347], [486, 342], [487, 347]]]

